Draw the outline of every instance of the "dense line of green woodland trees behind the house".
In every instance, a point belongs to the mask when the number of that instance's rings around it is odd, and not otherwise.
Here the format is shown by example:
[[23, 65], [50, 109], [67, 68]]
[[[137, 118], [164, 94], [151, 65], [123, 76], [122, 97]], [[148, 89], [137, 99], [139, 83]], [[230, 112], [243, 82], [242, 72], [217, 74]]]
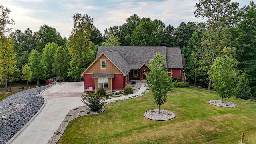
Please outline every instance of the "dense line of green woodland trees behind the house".
[[[231, 0], [199, 0], [194, 15], [206, 23], [181, 22], [174, 28], [161, 20], [140, 18], [134, 14], [126, 19], [126, 23], [106, 29], [103, 35], [93, 25], [93, 18], [76, 13], [68, 39], [47, 25], [41, 26], [38, 32], [28, 28], [24, 32], [15, 30], [9, 36], [4, 35], [11, 32], [6, 24], [14, 24], [14, 21], [8, 16], [10, 10], [2, 6], [1, 11], [6, 14], [0, 17], [0, 56], [1, 60], [10, 57], [13, 62], [10, 62], [12, 69], [11, 66], [8, 66], [10, 70], [1, 68], [1, 82], [23, 79], [38, 83], [39, 79], [56, 76], [68, 81], [80, 80], [80, 74], [95, 59], [98, 46], [165, 45], [181, 47], [187, 81], [208, 89], [212, 86], [208, 72], [214, 60], [227, 55], [234, 58], [238, 61], [238, 76], [246, 75], [255, 96], [256, 3], [250, 2], [242, 8], [238, 6]], [[12, 55], [6, 56], [2, 51], [4, 47], [8, 47]], [[7, 64], [1, 62], [0, 66]]]

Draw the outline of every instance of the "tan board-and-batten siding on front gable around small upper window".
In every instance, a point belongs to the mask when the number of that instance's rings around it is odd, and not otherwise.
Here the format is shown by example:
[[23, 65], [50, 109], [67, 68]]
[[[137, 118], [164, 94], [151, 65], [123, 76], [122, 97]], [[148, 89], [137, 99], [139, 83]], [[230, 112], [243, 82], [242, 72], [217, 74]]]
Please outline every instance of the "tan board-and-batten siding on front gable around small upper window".
[[[106, 70], [101, 70], [101, 67], [100, 67], [100, 61], [101, 60], [106, 60]], [[86, 73], [91, 73], [91, 74], [122, 74], [122, 72], [120, 70], [118, 70], [118, 68], [114, 64], [112, 64], [112, 62], [110, 62], [110, 60], [108, 60], [106, 58], [106, 56], [104, 56], [103, 54], [86, 71]]]

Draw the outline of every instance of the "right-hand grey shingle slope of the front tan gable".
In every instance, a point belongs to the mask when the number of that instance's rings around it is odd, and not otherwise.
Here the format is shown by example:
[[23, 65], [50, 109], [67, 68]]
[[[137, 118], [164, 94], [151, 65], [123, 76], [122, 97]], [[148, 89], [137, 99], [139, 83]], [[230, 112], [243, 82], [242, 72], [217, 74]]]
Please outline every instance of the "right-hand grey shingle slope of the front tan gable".
[[108, 52], [104, 52], [104, 54], [106, 54], [106, 56], [122, 71], [124, 72], [124, 74], [128, 75], [130, 72], [130, 66], [129, 64], [126, 62], [126, 60], [124, 60], [124, 58], [119, 54], [118, 51], [113, 50], [113, 51], [108, 51]]

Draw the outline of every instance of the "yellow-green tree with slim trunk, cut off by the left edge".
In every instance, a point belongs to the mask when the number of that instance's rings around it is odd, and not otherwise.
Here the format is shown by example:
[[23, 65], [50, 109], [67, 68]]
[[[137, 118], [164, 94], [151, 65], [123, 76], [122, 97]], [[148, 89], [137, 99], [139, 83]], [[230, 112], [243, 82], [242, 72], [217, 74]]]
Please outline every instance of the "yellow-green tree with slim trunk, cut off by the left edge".
[[7, 82], [12, 82], [16, 70], [16, 54], [14, 54], [12, 40], [0, 33], [0, 82], [5, 84], [5, 92], [8, 92]]

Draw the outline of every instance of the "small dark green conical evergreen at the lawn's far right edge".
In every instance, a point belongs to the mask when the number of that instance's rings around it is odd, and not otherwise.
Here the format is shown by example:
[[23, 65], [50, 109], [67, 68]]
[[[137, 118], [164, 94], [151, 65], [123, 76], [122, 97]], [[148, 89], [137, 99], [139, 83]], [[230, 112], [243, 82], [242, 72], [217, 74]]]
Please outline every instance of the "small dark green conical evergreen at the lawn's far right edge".
[[243, 74], [238, 77], [238, 84], [236, 85], [237, 89], [237, 98], [242, 98], [248, 100], [252, 97], [251, 89], [249, 87], [248, 78]]

